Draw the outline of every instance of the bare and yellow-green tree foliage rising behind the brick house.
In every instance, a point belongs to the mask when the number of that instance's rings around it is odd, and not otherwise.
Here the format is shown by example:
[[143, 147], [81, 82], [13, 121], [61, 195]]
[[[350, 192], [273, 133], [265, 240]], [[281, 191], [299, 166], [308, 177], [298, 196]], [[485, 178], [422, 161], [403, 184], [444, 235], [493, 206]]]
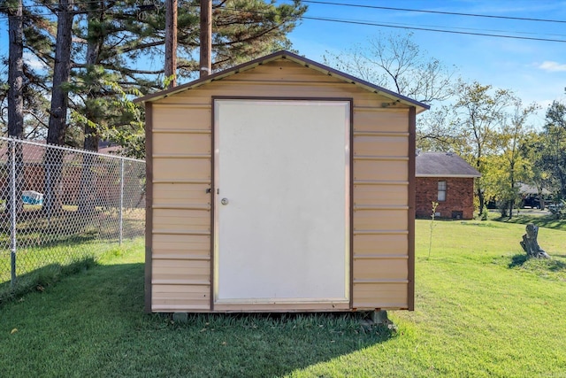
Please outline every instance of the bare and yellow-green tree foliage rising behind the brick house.
[[549, 109], [545, 132], [539, 135], [530, 123], [537, 105], [522, 104], [509, 89], [453, 80], [454, 70], [420, 50], [411, 36], [379, 34], [344, 53], [327, 52], [325, 63], [439, 105], [418, 117], [417, 148], [453, 151], [476, 167], [482, 174], [475, 184], [481, 210], [495, 200], [510, 216], [522, 202], [520, 182], [534, 185], [540, 194], [545, 187], [559, 187], [566, 195], [563, 108], [554, 104]]

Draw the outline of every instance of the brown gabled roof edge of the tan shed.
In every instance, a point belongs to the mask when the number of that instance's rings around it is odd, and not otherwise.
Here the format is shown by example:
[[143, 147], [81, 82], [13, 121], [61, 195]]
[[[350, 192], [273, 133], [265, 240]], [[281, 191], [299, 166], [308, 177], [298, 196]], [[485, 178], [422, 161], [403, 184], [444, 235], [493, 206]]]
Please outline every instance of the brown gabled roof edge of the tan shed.
[[301, 66], [305, 66], [308, 67], [312, 70], [318, 71], [320, 73], [324, 73], [326, 75], [329, 76], [333, 76], [337, 79], [340, 79], [342, 81], [346, 81], [348, 83], [354, 84], [357, 87], [363, 88], [365, 90], [368, 90], [370, 92], [379, 94], [381, 96], [385, 96], [387, 98], [390, 98], [392, 100], [394, 100], [395, 102], [399, 102], [402, 104], [406, 104], [409, 106], [415, 106], [417, 108], [417, 113], [419, 112], [424, 112], [425, 110], [429, 109], [430, 106], [427, 104], [423, 104], [420, 103], [416, 100], [413, 100], [409, 97], [406, 96], [402, 96], [399, 95], [397, 93], [394, 93], [393, 91], [389, 90], [389, 89], [385, 89], [382, 87], [379, 87], [375, 84], [371, 84], [368, 81], [363, 81], [362, 79], [358, 79], [354, 76], [349, 75], [348, 73], [342, 73], [338, 70], [335, 70], [329, 66], [325, 66], [322, 65], [320, 63], [317, 63], [313, 60], [301, 57], [299, 55], [296, 55], [292, 52], [289, 51], [285, 51], [285, 50], [281, 50], [278, 52], [274, 52], [270, 55], [264, 56], [262, 58], [256, 58], [254, 60], [251, 60], [249, 62], [243, 63], [239, 66], [233, 66], [231, 68], [228, 68], [224, 71], [220, 71], [218, 73], [212, 73], [208, 76], [204, 76], [200, 79], [197, 79], [195, 81], [190, 81], [187, 82], [186, 84], [180, 85], [178, 87], [174, 87], [172, 89], [165, 89], [162, 90], [160, 92], [157, 93], [152, 93], [149, 94], [147, 96], [142, 96], [140, 98], [137, 98], [134, 100], [135, 103], [141, 103], [141, 102], [152, 102], [152, 101], [157, 101], [161, 98], [167, 97], [167, 96], [173, 96], [176, 95], [180, 92], [184, 92], [186, 90], [189, 89], [195, 89], [198, 88], [204, 84], [210, 83], [212, 81], [218, 81], [221, 79], [226, 78], [227, 76], [236, 74], [236, 73], [241, 73], [244, 71], [248, 71], [252, 68], [255, 68], [256, 66], [261, 66], [264, 65], [266, 63], [275, 61], [275, 60], [279, 60], [279, 59], [287, 59], [290, 61], [293, 61], [294, 63], [297, 63]]

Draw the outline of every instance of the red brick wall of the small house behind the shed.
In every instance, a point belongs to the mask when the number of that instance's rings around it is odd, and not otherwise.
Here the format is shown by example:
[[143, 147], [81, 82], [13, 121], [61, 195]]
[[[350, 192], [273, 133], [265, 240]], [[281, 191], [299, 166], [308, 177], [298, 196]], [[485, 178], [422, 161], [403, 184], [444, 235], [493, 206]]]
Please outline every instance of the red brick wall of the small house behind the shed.
[[[438, 182], [446, 181], [446, 201], [438, 200]], [[417, 218], [430, 218], [432, 202], [438, 202], [439, 218], [453, 218], [452, 212], [462, 212], [463, 220], [474, 215], [474, 179], [455, 177], [417, 177]]]

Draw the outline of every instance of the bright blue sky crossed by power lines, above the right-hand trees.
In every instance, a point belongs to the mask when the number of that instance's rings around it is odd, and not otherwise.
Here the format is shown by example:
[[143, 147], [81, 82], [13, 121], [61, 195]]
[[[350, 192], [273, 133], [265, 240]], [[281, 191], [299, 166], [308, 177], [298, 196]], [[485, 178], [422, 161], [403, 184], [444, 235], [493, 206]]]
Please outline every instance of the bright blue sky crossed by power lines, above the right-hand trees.
[[[342, 19], [397, 27], [448, 29], [458, 32], [515, 35], [565, 42], [530, 41], [477, 35], [456, 35], [412, 30], [421, 50], [445, 66], [455, 66], [465, 81], [478, 81], [511, 89], [524, 104], [543, 106], [533, 123], [541, 126], [544, 111], [553, 100], [566, 101], [566, 1], [544, 0], [325, 0], [327, 3], [473, 13], [491, 16], [555, 19], [562, 23], [515, 19], [466, 17], [424, 12], [393, 11], [343, 5], [309, 5], [306, 17]], [[288, 0], [279, 0], [279, 3]], [[289, 35], [294, 49], [306, 58], [323, 62], [326, 51], [334, 54], [382, 33], [408, 33], [409, 29], [375, 27], [304, 19]]]

